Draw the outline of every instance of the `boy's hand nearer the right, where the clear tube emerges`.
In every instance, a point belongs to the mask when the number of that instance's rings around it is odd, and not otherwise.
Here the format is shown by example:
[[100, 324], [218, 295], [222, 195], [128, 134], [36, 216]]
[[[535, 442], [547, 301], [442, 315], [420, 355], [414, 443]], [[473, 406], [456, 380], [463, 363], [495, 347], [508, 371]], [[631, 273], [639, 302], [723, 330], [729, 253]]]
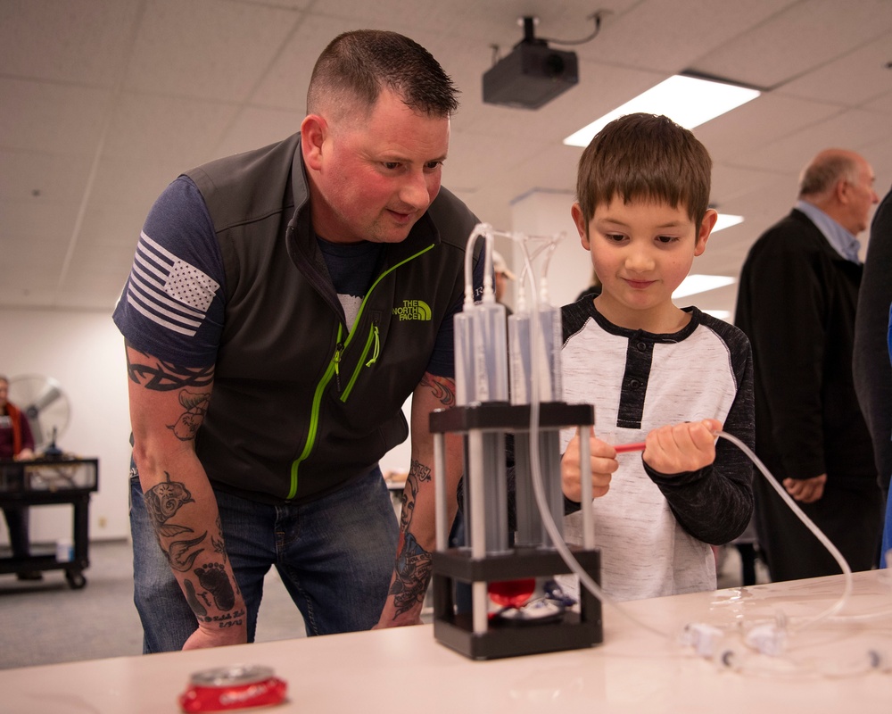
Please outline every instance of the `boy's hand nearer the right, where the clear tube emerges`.
[[721, 428], [722, 422], [703, 419], [654, 429], [645, 442], [644, 461], [661, 474], [702, 469], [715, 461], [714, 432]]

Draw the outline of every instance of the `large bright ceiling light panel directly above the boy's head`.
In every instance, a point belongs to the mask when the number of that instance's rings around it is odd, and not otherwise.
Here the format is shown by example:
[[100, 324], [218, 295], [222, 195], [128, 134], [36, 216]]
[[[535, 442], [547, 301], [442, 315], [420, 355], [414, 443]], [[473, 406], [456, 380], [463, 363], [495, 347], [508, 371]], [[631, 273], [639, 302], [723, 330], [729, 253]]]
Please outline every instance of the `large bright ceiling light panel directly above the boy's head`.
[[566, 137], [564, 143], [588, 146], [591, 138], [608, 122], [635, 112], [665, 114], [685, 129], [693, 129], [725, 112], [731, 112], [741, 104], [747, 104], [760, 94], [757, 89], [676, 74]]

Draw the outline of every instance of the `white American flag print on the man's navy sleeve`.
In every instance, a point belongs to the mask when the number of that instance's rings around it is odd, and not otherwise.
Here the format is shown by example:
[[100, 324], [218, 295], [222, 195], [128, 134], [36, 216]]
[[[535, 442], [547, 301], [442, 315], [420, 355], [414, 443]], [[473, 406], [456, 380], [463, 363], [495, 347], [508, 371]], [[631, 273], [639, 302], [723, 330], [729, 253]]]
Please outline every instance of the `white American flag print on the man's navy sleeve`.
[[218, 290], [219, 283], [207, 273], [140, 233], [127, 302], [146, 319], [194, 336]]

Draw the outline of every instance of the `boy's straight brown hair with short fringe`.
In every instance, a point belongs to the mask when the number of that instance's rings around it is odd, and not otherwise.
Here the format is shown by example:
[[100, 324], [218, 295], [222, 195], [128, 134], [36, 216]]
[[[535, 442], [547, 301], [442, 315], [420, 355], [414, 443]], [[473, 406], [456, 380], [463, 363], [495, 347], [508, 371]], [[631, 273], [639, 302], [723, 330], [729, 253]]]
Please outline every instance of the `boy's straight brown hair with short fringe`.
[[699, 225], [709, 208], [713, 162], [697, 138], [673, 120], [626, 114], [607, 124], [582, 152], [576, 200], [586, 223], [616, 196], [684, 206]]

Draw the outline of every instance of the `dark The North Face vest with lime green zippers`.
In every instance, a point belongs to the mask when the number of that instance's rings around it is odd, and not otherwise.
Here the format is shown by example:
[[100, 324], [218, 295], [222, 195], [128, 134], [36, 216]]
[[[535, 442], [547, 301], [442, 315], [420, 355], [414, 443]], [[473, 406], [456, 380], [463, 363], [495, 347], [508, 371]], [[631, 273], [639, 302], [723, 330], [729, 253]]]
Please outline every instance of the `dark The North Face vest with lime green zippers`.
[[226, 323], [196, 439], [211, 481], [256, 501], [301, 502], [368, 473], [408, 436], [402, 404], [463, 294], [475, 216], [442, 189], [409, 237], [384, 247], [348, 331], [310, 225], [300, 135], [187, 175], [226, 272]]

